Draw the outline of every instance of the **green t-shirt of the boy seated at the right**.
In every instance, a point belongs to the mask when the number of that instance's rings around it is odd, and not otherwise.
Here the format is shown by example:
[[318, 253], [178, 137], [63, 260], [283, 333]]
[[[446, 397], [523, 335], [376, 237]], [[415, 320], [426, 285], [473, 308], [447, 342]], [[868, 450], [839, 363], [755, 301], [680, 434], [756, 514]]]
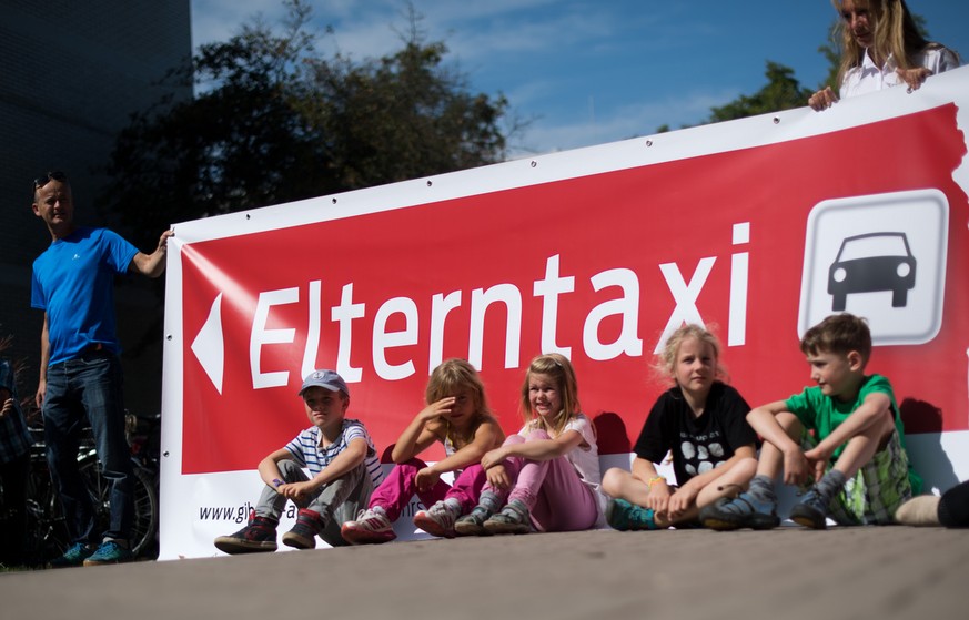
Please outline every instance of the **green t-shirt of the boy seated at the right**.
[[[888, 395], [891, 400], [891, 413], [895, 416], [895, 428], [898, 429], [898, 439], [901, 447], [905, 448], [905, 426], [901, 423], [901, 414], [898, 409], [898, 404], [895, 402], [895, 393], [891, 390], [891, 384], [881, 375], [869, 375], [861, 382], [861, 388], [858, 390], [858, 396], [855, 400], [844, 402], [830, 396], [825, 396], [821, 388], [818, 386], [806, 387], [800, 394], [795, 394], [785, 402], [787, 410], [797, 416], [797, 419], [808, 430], [815, 430], [818, 441], [825, 439], [831, 434], [838, 425], [848, 419], [855, 409], [865, 403], [865, 398], [872, 393], [880, 392]], [[838, 446], [832, 460], [838, 460], [845, 446]], [[922, 489], [922, 479], [915, 472], [911, 466], [911, 460], [908, 464], [908, 477], [911, 481], [912, 494], [918, 495]]]

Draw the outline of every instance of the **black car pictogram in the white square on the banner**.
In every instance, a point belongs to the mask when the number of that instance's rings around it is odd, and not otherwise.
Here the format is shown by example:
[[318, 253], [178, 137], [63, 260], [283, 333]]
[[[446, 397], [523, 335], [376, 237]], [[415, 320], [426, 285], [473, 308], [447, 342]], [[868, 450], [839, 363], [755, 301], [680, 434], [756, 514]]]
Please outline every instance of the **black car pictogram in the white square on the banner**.
[[845, 309], [851, 293], [891, 291], [891, 307], [905, 307], [915, 287], [916, 260], [905, 233], [868, 233], [841, 242], [828, 270], [831, 309]]

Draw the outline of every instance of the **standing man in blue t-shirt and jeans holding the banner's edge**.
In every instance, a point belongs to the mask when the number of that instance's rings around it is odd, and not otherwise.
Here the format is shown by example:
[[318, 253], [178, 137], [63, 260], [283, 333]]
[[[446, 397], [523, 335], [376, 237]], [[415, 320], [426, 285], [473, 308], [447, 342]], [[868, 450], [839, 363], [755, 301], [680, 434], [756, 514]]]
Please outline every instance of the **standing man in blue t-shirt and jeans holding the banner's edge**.
[[[72, 546], [51, 563], [97, 566], [131, 559], [133, 476], [124, 438], [121, 364], [114, 323], [114, 275], [158, 277], [165, 268], [165, 231], [151, 254], [104, 228], [74, 224], [71, 186], [62, 172], [33, 182], [33, 214], [51, 244], [34, 262], [30, 305], [43, 311], [37, 405], [43, 410], [51, 477], [58, 487]], [[95, 531], [94, 511], [78, 476], [78, 443], [87, 423], [103, 475], [111, 480], [111, 516]]]

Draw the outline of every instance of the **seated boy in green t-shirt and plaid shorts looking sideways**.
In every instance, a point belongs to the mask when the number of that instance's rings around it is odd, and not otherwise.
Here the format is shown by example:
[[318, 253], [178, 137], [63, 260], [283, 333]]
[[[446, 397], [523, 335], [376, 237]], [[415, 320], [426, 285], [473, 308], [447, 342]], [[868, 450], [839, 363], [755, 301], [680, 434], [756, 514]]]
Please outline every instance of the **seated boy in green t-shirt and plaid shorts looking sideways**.
[[817, 383], [787, 400], [753, 409], [747, 421], [764, 438], [757, 475], [746, 492], [700, 512], [717, 530], [769, 529], [780, 524], [774, 480], [814, 486], [790, 519], [824, 529], [838, 525], [891, 524], [895, 510], [921, 491], [910, 468], [905, 434], [888, 379], [865, 375], [871, 333], [850, 314], [827, 317], [800, 343]]

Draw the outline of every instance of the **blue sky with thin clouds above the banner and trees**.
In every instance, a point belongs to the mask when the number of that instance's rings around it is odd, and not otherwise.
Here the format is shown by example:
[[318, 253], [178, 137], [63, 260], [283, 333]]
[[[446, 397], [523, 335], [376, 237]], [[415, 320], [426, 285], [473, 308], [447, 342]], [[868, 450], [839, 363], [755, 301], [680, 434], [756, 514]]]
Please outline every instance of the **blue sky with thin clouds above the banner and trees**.
[[[309, 0], [320, 49], [355, 59], [401, 45], [404, 0]], [[193, 44], [224, 41], [280, 0], [191, 0]], [[969, 2], [909, 0], [933, 40], [969, 58]], [[698, 123], [715, 105], [765, 83], [765, 63], [795, 70], [814, 88], [826, 74], [818, 53], [836, 18], [827, 0], [413, 0], [427, 39], [475, 92], [504, 93], [533, 119], [512, 144], [527, 156]]]

